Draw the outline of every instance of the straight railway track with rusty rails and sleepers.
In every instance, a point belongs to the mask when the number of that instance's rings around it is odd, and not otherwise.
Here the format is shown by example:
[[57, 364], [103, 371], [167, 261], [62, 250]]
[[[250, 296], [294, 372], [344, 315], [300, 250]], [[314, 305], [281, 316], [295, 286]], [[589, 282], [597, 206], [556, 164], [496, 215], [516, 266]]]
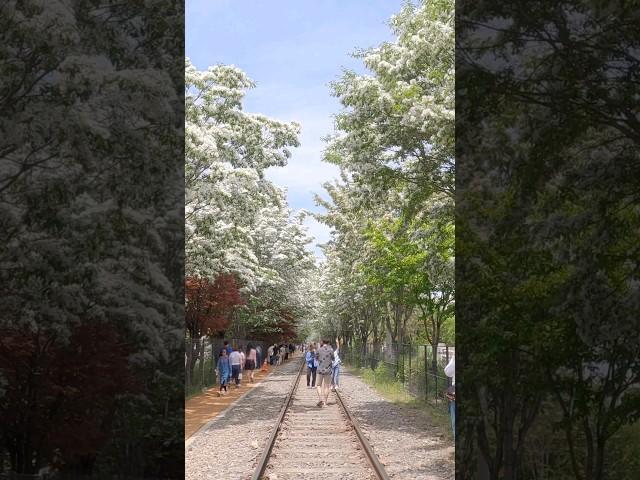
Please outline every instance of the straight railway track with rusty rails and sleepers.
[[252, 480], [388, 480], [340, 394], [317, 406], [304, 367], [303, 361]]

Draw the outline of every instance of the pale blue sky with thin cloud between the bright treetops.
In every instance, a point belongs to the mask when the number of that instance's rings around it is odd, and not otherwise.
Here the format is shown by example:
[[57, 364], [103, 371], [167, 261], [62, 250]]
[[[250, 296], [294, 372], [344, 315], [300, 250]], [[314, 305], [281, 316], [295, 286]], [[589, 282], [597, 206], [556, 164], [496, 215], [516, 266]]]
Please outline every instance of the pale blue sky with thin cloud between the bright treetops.
[[[333, 131], [340, 110], [329, 82], [342, 69], [363, 72], [350, 57], [357, 48], [391, 40], [386, 22], [401, 0], [187, 0], [186, 54], [201, 70], [216, 63], [242, 68], [257, 87], [246, 97], [248, 112], [302, 125], [301, 146], [284, 168], [267, 177], [287, 188], [294, 209], [320, 211], [313, 193], [338, 176], [321, 161], [322, 137]], [[329, 239], [329, 229], [309, 218], [311, 246]]]

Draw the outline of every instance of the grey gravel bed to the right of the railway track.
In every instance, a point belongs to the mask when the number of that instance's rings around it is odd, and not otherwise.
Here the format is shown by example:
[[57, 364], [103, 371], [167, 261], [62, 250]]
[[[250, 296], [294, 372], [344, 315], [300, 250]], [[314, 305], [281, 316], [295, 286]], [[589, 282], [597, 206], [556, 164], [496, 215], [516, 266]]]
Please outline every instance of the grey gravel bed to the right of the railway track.
[[348, 372], [340, 393], [389, 476], [398, 480], [453, 480], [455, 447], [422, 416], [411, 415]]

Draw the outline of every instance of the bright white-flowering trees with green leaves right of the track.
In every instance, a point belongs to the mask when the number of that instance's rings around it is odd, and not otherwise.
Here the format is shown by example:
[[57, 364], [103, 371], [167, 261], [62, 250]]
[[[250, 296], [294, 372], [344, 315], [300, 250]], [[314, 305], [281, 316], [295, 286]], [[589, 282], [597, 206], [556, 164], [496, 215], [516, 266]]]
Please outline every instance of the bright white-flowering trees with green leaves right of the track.
[[325, 160], [342, 183], [317, 198], [333, 228], [324, 328], [360, 343], [386, 332], [435, 351], [453, 322], [453, 22], [452, 1], [407, 4], [394, 41], [356, 54], [370, 73], [333, 84], [344, 108]]

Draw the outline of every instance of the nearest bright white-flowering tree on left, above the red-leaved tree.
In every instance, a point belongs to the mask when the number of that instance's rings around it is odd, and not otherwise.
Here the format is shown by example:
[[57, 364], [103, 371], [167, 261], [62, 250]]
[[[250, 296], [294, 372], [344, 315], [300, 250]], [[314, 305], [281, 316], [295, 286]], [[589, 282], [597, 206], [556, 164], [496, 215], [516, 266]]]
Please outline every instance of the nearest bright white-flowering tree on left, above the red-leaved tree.
[[264, 171], [286, 164], [299, 132], [296, 124], [244, 112], [242, 99], [253, 86], [236, 67], [198, 71], [187, 59], [187, 276], [233, 272], [249, 289], [266, 274], [254, 254], [259, 212], [282, 200]]

